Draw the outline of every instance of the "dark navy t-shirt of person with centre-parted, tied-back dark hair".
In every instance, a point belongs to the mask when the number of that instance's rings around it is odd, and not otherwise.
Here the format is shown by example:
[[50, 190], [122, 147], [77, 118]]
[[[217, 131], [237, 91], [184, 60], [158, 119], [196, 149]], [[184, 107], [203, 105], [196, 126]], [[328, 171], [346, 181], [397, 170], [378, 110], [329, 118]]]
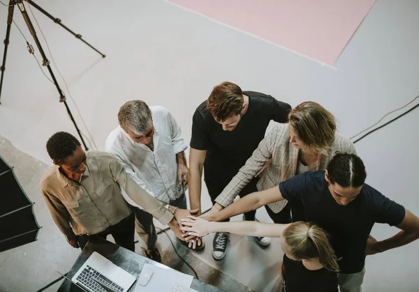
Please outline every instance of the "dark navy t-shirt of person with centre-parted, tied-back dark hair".
[[282, 197], [301, 201], [307, 222], [321, 226], [330, 234], [330, 242], [341, 272], [360, 272], [365, 264], [367, 238], [375, 223], [395, 226], [402, 223], [404, 207], [384, 197], [366, 183], [346, 206], [330, 194], [325, 171], [306, 172], [279, 184]]

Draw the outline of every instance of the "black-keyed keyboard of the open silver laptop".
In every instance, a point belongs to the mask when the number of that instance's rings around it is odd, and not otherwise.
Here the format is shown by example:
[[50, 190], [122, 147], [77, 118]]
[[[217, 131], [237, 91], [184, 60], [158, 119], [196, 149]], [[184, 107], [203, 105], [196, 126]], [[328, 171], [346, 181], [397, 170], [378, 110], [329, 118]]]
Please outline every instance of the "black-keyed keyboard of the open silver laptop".
[[[98, 272], [94, 268], [91, 268], [91, 266], [89, 265], [87, 265], [82, 270], [82, 272], [80, 272], [80, 275], [78, 275], [77, 277], [77, 281], [80, 282], [80, 284], [86, 286], [86, 288], [89, 289], [91, 292], [124, 291], [124, 289], [121, 286], [119, 286], [115, 282], [112, 282], [110, 279], [103, 276], [100, 272]], [[103, 286], [105, 286], [106, 289]]]

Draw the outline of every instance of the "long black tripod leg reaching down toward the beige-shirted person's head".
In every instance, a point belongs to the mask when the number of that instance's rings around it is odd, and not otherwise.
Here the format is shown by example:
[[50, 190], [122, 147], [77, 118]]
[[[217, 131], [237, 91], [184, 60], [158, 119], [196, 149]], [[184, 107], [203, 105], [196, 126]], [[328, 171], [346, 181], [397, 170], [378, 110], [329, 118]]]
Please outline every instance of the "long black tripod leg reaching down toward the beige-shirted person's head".
[[24, 5], [22, 3], [22, 1], [17, 2], [17, 7], [20, 10], [20, 13], [22, 13], [24, 22], [26, 22], [29, 31], [31, 32], [32, 37], [35, 40], [36, 43], [36, 47], [38, 47], [39, 49], [39, 53], [42, 56], [43, 59], [43, 66], [46, 66], [48, 68], [48, 71], [50, 72], [50, 75], [52, 77], [52, 80], [54, 81], [55, 87], [57, 88], [57, 91], [59, 93], [59, 101], [60, 102], [64, 102], [64, 105], [66, 106], [67, 112], [68, 112], [68, 116], [70, 116], [71, 121], [73, 122], [74, 126], [75, 126], [75, 130], [77, 130], [78, 135], [80, 136], [80, 139], [82, 140], [83, 146], [86, 150], [89, 150], [89, 148], [87, 148], [86, 143], [84, 142], [84, 139], [82, 137], [82, 133], [80, 132], [80, 129], [78, 128], [77, 123], [75, 123], [75, 120], [73, 118], [73, 115], [70, 112], [70, 109], [68, 108], [67, 102], [66, 102], [66, 97], [64, 96], [63, 91], [61, 91], [61, 89], [59, 88], [59, 84], [57, 82], [57, 79], [55, 78], [54, 72], [52, 72], [51, 66], [50, 66], [50, 61], [48, 61], [47, 56], [45, 55], [45, 52], [43, 51], [43, 48], [41, 47], [41, 43], [39, 43], [38, 40], [38, 36], [36, 36], [36, 31], [34, 29], [34, 26], [32, 25], [31, 20], [29, 19], [29, 15], [27, 13], [27, 10], [24, 8]]

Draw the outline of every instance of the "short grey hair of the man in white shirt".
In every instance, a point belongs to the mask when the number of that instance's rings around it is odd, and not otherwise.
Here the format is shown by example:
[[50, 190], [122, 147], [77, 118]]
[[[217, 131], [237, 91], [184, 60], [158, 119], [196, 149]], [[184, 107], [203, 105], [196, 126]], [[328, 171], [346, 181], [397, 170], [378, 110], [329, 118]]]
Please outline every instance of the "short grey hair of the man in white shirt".
[[152, 111], [142, 100], [131, 100], [119, 109], [118, 121], [125, 132], [129, 128], [136, 135], [142, 135], [151, 127]]

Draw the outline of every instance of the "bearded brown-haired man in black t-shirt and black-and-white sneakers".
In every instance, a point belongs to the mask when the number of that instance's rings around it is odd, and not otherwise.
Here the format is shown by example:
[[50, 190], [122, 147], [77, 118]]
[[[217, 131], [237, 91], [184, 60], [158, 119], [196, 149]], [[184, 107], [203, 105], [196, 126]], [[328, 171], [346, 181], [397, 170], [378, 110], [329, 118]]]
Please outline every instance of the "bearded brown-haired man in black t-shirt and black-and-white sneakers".
[[[193, 114], [191, 153], [189, 156], [189, 199], [191, 208], [199, 208], [201, 179], [212, 203], [251, 157], [265, 137], [270, 121], [287, 123], [291, 106], [270, 95], [244, 91], [231, 82], [215, 86]], [[240, 192], [240, 197], [256, 192], [257, 178]], [[256, 220], [256, 211], [244, 214], [245, 220]], [[270, 238], [255, 238], [267, 247]], [[212, 255], [221, 260], [226, 254], [228, 233], [216, 233]]]

